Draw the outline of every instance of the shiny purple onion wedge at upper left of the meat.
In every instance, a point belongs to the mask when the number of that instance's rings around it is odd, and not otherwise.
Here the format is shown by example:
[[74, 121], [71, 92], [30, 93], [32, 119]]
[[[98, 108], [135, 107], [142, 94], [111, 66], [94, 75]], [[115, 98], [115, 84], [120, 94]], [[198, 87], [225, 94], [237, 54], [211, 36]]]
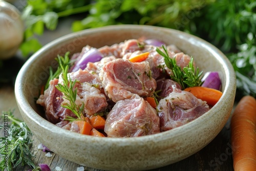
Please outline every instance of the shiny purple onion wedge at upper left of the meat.
[[100, 53], [96, 48], [91, 48], [89, 51], [84, 53], [82, 57], [75, 63], [70, 72], [76, 72], [79, 69], [83, 70], [86, 68], [88, 62], [97, 62], [102, 59], [103, 54]]

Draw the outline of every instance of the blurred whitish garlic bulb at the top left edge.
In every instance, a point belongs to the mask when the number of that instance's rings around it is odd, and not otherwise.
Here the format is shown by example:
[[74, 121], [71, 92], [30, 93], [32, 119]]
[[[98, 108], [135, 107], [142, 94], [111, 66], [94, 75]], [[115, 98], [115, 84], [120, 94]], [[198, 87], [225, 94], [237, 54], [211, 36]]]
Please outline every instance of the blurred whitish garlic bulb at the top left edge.
[[0, 1], [0, 59], [12, 57], [23, 41], [24, 25], [16, 7]]

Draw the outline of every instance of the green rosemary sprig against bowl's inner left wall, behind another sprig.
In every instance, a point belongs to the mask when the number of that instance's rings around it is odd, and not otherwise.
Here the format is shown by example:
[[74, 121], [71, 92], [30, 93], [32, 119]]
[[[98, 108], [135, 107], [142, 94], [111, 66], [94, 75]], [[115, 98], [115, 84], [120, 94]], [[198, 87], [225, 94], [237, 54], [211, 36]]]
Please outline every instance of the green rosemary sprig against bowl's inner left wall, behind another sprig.
[[60, 66], [62, 66], [63, 68], [66, 68], [66, 66], [70, 66], [70, 64], [73, 62], [72, 60], [69, 59], [69, 54], [70, 52], [66, 52], [64, 57], [58, 55], [57, 58], [55, 58], [55, 60], [59, 63], [59, 66], [55, 71], [55, 73], [53, 73], [53, 69], [52, 67], [50, 67], [50, 76], [46, 82], [45, 90], [48, 89], [50, 80], [52, 80], [53, 78], [58, 78], [59, 75], [61, 74], [62, 69]]

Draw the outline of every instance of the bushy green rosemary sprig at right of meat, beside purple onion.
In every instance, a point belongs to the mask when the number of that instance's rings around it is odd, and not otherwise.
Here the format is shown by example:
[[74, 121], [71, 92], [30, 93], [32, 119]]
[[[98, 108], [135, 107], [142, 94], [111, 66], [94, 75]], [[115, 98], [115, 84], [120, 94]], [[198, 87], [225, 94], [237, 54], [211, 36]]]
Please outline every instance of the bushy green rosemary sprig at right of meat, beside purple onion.
[[193, 65], [194, 63], [193, 57], [190, 58], [188, 66], [181, 69], [181, 67], [177, 65], [175, 57], [170, 58], [166, 48], [164, 46], [162, 46], [162, 48], [164, 52], [162, 52], [158, 48], [156, 49], [156, 51], [157, 53], [159, 53], [161, 56], [164, 57], [164, 62], [166, 67], [172, 70], [173, 72], [173, 75], [170, 75], [170, 78], [178, 82], [182, 90], [184, 90], [187, 87], [195, 87], [195, 86], [202, 85], [201, 78], [202, 78], [203, 72], [200, 72], [198, 67], [195, 69]]

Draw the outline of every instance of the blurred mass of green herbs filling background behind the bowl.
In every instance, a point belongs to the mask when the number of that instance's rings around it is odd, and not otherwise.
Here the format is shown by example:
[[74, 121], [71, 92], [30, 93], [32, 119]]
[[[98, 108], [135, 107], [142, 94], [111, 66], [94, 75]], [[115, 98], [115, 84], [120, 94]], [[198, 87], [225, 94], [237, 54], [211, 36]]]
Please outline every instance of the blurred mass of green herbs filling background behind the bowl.
[[[255, 1], [30, 0], [10, 3], [20, 11], [25, 25], [24, 40], [17, 52], [23, 56], [18, 60], [19, 67], [47, 43], [42, 35], [58, 28], [75, 32], [106, 25], [153, 25], [194, 34], [215, 45], [226, 54], [236, 71], [237, 99], [248, 94], [256, 96]], [[13, 60], [0, 62], [0, 81], [10, 81], [10, 76], [3, 72]], [[13, 73], [15, 77], [16, 72]]]

